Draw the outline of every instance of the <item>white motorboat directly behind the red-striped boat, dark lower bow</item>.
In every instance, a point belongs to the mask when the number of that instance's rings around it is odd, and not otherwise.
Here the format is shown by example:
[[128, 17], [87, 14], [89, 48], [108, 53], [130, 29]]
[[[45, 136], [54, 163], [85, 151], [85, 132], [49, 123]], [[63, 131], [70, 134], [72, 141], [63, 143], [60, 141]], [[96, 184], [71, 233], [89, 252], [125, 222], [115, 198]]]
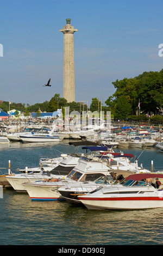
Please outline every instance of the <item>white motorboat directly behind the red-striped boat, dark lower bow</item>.
[[[87, 182], [77, 182], [77, 184], [66, 184], [66, 186], [59, 188], [59, 192], [68, 202], [71, 203], [80, 203], [78, 196], [80, 194], [88, 193], [92, 191], [93, 188], [96, 189], [99, 186], [108, 186], [108, 184], [115, 184], [118, 181], [126, 178], [129, 174], [134, 173], [151, 173], [147, 169], [138, 167], [137, 163], [131, 163], [130, 159], [133, 157], [132, 154], [123, 154], [123, 153], [101, 153], [104, 156], [108, 155], [108, 167], [109, 175], [107, 179], [105, 176], [100, 177], [94, 181], [94, 184], [89, 184]], [[109, 178], [109, 179], [108, 179]]]

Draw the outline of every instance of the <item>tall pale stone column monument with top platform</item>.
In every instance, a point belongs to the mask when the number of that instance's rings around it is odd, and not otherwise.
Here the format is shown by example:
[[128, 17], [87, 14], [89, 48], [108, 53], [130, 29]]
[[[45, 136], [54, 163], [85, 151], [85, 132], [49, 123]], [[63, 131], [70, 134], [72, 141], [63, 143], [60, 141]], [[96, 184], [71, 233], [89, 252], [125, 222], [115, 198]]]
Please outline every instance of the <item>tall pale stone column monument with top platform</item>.
[[73, 33], [77, 31], [78, 29], [71, 25], [71, 19], [66, 19], [66, 26], [60, 29], [60, 32], [64, 33], [63, 97], [67, 102], [75, 101]]

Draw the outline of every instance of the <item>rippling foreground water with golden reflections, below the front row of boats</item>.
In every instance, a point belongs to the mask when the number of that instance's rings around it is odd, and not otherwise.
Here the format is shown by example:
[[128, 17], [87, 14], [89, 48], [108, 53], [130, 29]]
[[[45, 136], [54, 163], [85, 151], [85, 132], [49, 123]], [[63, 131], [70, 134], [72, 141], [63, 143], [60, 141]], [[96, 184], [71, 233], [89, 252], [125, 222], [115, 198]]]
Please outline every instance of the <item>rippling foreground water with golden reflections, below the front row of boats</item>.
[[32, 201], [28, 194], [15, 191], [4, 192], [0, 203], [2, 244], [8, 244], [7, 237], [10, 244], [19, 245], [162, 243], [163, 209], [92, 211], [66, 201]]

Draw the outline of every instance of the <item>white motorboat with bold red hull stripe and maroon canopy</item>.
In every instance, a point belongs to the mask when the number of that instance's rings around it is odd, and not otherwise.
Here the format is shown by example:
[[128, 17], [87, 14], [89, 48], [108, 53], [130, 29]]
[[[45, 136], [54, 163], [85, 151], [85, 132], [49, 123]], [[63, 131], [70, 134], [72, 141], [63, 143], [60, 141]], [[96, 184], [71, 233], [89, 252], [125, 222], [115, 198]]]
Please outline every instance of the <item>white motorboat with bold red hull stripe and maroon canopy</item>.
[[163, 207], [163, 190], [142, 180], [163, 178], [163, 174], [133, 174], [120, 185], [97, 188], [79, 200], [92, 210], [140, 210]]

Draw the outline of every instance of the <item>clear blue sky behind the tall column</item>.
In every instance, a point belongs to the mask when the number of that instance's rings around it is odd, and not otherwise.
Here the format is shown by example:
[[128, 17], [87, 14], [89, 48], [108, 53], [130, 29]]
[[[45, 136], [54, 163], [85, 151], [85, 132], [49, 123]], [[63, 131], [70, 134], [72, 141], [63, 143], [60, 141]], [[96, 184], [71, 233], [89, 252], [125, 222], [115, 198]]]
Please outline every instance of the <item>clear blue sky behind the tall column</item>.
[[[160, 71], [163, 3], [160, 0], [0, 0], [0, 99], [33, 105], [62, 97], [64, 35], [74, 33], [76, 101], [115, 92], [112, 82]], [[43, 87], [51, 78], [52, 87]]]

